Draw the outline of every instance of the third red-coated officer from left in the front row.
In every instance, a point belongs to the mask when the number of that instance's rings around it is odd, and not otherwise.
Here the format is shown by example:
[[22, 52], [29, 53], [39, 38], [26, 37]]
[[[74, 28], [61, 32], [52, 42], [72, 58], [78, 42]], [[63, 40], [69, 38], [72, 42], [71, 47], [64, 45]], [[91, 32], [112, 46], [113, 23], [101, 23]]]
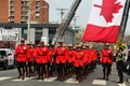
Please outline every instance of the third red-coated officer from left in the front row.
[[68, 51], [64, 46], [63, 41], [58, 41], [58, 45], [54, 48], [53, 56], [56, 56], [55, 63], [57, 70], [57, 80], [64, 81], [64, 68], [67, 60]]

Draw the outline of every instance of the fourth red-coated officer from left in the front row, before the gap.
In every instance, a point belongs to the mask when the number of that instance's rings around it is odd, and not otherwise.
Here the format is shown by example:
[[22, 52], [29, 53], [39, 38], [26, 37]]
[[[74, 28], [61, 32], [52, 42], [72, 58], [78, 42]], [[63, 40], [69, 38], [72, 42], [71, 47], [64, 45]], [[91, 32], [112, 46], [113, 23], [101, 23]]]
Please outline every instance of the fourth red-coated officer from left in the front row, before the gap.
[[76, 46], [76, 52], [74, 54], [74, 68], [76, 73], [76, 80], [80, 83], [82, 81], [82, 73], [84, 67], [84, 53], [81, 51], [81, 45]]

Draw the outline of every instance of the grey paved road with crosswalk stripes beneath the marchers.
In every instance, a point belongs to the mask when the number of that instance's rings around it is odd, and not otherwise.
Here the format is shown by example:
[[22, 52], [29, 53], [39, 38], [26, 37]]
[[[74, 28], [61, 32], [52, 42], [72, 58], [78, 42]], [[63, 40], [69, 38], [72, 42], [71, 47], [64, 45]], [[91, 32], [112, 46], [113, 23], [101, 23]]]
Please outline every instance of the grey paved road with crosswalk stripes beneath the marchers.
[[64, 82], [55, 81], [56, 77], [46, 78], [44, 81], [39, 81], [36, 77], [26, 77], [24, 81], [17, 80], [17, 70], [2, 70], [0, 69], [0, 86], [130, 86], [127, 82], [128, 76], [125, 74], [123, 84], [118, 84], [117, 71], [113, 64], [112, 74], [109, 81], [104, 81], [102, 78], [102, 67], [98, 64], [94, 72], [90, 73], [83, 82], [78, 83], [75, 78], [69, 78]]

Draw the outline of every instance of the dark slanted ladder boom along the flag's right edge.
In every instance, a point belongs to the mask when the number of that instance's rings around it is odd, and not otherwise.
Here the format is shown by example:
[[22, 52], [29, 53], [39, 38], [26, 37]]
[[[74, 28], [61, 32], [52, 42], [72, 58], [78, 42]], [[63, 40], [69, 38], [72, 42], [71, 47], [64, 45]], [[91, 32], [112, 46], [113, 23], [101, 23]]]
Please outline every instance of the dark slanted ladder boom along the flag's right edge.
[[125, 4], [123, 14], [122, 14], [122, 19], [121, 19], [118, 41], [123, 40], [126, 26], [127, 26], [127, 20], [128, 20], [128, 16], [129, 16], [129, 9], [130, 9], [130, 0], [127, 0], [126, 4]]

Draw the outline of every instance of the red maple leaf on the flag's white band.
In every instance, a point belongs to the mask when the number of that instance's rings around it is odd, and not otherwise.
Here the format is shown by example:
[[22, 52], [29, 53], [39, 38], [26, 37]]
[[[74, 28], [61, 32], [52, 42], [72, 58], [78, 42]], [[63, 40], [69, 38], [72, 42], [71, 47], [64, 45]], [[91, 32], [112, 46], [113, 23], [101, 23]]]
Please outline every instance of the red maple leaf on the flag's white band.
[[103, 0], [102, 5], [94, 4], [96, 8], [101, 8], [101, 16], [104, 16], [106, 23], [112, 23], [114, 14], [118, 13], [122, 8], [120, 2], [116, 3], [117, 0]]

